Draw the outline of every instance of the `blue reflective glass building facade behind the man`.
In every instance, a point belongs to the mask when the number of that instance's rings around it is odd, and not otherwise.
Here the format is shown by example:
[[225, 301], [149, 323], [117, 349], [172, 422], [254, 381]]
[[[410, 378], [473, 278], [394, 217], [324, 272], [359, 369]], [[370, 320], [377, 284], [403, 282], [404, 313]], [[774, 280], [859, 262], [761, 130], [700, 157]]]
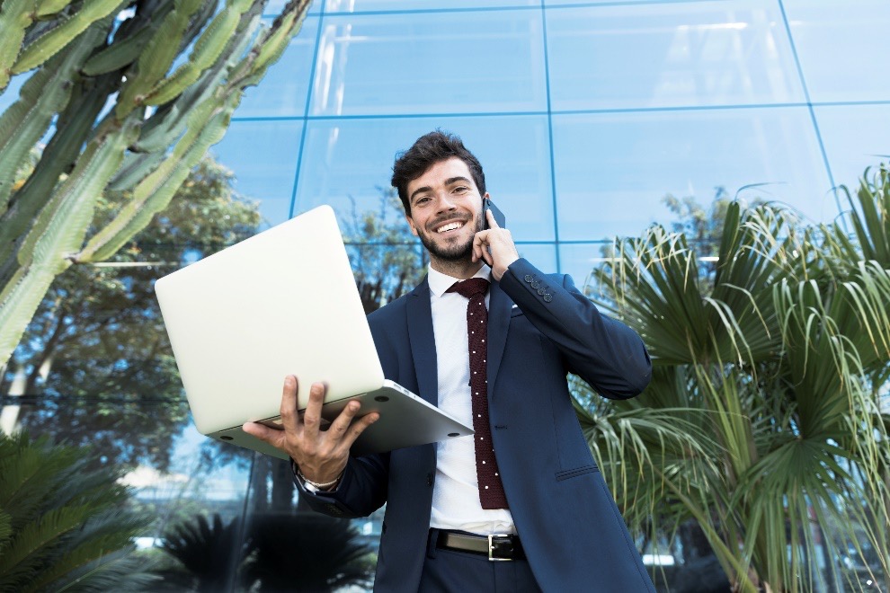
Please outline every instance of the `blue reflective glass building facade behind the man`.
[[[670, 224], [667, 195], [708, 205], [722, 189], [815, 221], [848, 208], [836, 188], [890, 155], [888, 30], [886, 0], [316, 0], [212, 153], [263, 226], [320, 204], [346, 220], [379, 208], [400, 150], [448, 130], [521, 254], [583, 284], [611, 237]], [[120, 413], [94, 430], [111, 439], [168, 418], [150, 385], [106, 395]], [[289, 475], [208, 449], [180, 412], [164, 463], [130, 447], [147, 507], [238, 518], [294, 500]], [[373, 541], [378, 522], [358, 528]]]

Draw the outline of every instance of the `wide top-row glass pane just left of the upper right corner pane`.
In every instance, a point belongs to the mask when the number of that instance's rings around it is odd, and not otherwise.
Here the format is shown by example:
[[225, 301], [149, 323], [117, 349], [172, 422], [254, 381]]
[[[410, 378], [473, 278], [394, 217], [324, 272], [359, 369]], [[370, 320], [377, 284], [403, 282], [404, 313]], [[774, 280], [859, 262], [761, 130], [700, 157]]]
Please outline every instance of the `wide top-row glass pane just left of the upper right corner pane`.
[[774, 2], [550, 9], [556, 111], [803, 102]]

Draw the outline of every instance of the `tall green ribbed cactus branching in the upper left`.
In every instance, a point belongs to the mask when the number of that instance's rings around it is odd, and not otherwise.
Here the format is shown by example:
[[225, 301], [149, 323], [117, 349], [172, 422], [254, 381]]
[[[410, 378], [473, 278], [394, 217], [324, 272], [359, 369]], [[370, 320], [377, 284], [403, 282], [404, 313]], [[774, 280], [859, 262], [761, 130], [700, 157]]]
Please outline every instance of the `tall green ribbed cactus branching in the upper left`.
[[[0, 116], [0, 366], [53, 279], [128, 243], [223, 137], [309, 4], [291, 0], [263, 26], [266, 1], [0, 3], [0, 92], [33, 70]], [[48, 133], [33, 170], [23, 167]], [[112, 190], [129, 201], [93, 229], [95, 200]]]

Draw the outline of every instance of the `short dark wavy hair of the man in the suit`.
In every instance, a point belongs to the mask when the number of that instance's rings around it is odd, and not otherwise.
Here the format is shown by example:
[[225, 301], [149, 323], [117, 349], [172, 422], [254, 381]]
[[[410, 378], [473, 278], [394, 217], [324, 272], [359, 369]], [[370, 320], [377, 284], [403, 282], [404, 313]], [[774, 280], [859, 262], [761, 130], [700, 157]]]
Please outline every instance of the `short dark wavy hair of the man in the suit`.
[[457, 157], [467, 164], [479, 195], [485, 195], [485, 173], [482, 164], [460, 141], [460, 138], [437, 129], [417, 138], [414, 146], [396, 155], [393, 165], [393, 187], [398, 190], [405, 214], [411, 215], [411, 204], [408, 203], [408, 183], [426, 173], [433, 164]]

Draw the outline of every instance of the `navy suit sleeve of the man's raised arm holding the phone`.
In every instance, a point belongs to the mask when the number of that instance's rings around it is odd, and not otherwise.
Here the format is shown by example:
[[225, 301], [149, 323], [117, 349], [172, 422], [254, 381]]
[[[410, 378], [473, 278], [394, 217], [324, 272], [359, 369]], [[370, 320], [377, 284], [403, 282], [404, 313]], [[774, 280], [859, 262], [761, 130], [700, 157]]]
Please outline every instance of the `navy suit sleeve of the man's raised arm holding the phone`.
[[549, 276], [529, 261], [514, 261], [500, 281], [538, 332], [562, 353], [566, 370], [612, 399], [640, 394], [652, 378], [652, 362], [640, 337], [599, 312], [571, 276]]

